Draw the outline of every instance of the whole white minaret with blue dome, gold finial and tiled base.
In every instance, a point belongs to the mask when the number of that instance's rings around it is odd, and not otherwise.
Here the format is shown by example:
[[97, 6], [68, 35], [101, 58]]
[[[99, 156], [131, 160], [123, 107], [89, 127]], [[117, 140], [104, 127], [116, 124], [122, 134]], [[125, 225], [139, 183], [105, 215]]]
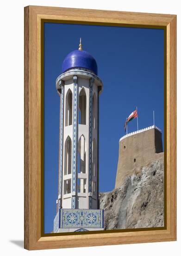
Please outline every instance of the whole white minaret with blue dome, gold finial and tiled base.
[[[56, 79], [60, 95], [60, 147], [54, 232], [103, 229], [98, 200], [99, 94], [103, 88], [94, 58], [69, 53]], [[58, 135], [57, 135], [58, 136]]]

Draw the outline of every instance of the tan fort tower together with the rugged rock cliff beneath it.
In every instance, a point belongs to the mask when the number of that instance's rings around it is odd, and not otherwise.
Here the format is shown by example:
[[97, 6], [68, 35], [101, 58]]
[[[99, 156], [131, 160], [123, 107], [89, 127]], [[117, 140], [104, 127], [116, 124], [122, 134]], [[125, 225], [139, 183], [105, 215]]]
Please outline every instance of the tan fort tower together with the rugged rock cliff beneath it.
[[119, 140], [115, 189], [100, 192], [104, 229], [164, 226], [162, 131], [150, 126]]

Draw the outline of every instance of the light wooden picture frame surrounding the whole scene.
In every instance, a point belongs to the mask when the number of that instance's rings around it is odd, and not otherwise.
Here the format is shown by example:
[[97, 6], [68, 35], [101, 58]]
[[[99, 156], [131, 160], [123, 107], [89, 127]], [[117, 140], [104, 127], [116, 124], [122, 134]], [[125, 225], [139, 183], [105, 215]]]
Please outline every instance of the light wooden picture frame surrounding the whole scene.
[[[42, 220], [42, 21], [165, 30], [166, 186], [163, 229], [46, 236]], [[176, 240], [176, 15], [59, 7], [25, 7], [25, 249], [55, 249]]]

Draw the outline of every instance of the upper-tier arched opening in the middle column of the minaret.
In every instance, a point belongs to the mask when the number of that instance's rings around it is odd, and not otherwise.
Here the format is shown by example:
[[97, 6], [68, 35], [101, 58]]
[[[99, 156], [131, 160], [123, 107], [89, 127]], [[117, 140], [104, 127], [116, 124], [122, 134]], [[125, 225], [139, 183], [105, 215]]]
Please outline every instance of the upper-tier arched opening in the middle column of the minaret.
[[79, 124], [86, 124], [86, 92], [84, 88], [79, 94]]

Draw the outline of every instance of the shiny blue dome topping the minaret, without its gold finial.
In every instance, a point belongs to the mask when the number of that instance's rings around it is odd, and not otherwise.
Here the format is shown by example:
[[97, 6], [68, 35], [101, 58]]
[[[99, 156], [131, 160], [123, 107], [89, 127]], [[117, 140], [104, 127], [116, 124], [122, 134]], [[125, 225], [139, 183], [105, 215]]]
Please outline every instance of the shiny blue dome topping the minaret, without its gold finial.
[[64, 73], [66, 70], [73, 67], [87, 68], [97, 75], [97, 63], [93, 56], [86, 51], [75, 50], [65, 57], [62, 64], [62, 72]]

